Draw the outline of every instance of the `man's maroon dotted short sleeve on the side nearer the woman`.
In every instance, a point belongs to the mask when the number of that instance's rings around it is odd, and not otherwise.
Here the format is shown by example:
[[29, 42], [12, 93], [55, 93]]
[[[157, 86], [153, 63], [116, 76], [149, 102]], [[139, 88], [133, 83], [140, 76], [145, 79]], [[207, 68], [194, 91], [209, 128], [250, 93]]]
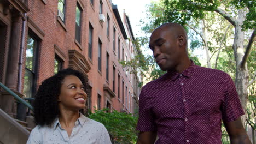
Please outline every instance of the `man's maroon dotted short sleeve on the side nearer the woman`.
[[139, 95], [139, 119], [137, 123], [137, 130], [139, 131], [155, 131], [156, 125], [154, 122], [154, 115], [147, 101], [147, 91], [142, 88]]

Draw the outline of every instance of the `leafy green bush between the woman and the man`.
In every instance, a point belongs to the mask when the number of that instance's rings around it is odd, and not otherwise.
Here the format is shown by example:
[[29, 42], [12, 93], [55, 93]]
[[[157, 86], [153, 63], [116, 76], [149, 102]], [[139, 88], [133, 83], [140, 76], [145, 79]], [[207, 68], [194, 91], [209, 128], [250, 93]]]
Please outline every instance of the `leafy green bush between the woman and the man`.
[[95, 113], [89, 112], [89, 118], [102, 123], [112, 140], [112, 143], [135, 143], [137, 140], [137, 131], [135, 130], [137, 124], [137, 117], [131, 114], [118, 112], [109, 109], [95, 110]]

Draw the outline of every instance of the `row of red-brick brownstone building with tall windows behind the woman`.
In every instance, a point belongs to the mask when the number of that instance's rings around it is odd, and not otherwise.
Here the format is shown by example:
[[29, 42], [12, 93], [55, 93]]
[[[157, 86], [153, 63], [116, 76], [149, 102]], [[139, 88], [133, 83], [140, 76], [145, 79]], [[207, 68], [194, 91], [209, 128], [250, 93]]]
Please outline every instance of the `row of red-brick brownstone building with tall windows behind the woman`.
[[[141, 78], [119, 64], [136, 55], [134, 39], [110, 0], [1, 0], [0, 82], [33, 98], [44, 79], [71, 67], [88, 76], [89, 109], [134, 113]], [[14, 98], [1, 89], [0, 101], [14, 117]]]

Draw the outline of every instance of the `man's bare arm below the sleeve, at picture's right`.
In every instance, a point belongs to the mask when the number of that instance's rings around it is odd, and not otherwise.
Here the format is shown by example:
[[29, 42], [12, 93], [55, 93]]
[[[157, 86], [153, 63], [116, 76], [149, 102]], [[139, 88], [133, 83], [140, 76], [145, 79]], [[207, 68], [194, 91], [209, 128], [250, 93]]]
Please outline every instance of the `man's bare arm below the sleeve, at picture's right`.
[[248, 135], [246, 134], [245, 128], [243, 128], [241, 118], [237, 118], [236, 121], [233, 122], [224, 122], [224, 125], [226, 127], [226, 131], [228, 131], [230, 141], [232, 144], [251, 143]]

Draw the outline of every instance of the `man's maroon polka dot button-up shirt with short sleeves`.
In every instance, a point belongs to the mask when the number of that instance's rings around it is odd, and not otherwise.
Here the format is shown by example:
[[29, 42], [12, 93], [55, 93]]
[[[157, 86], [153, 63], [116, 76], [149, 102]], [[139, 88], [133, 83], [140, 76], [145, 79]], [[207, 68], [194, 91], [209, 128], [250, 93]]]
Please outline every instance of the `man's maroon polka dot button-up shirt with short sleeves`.
[[195, 65], [147, 83], [139, 96], [137, 130], [156, 143], [222, 143], [221, 121], [244, 115], [234, 82], [223, 71]]

